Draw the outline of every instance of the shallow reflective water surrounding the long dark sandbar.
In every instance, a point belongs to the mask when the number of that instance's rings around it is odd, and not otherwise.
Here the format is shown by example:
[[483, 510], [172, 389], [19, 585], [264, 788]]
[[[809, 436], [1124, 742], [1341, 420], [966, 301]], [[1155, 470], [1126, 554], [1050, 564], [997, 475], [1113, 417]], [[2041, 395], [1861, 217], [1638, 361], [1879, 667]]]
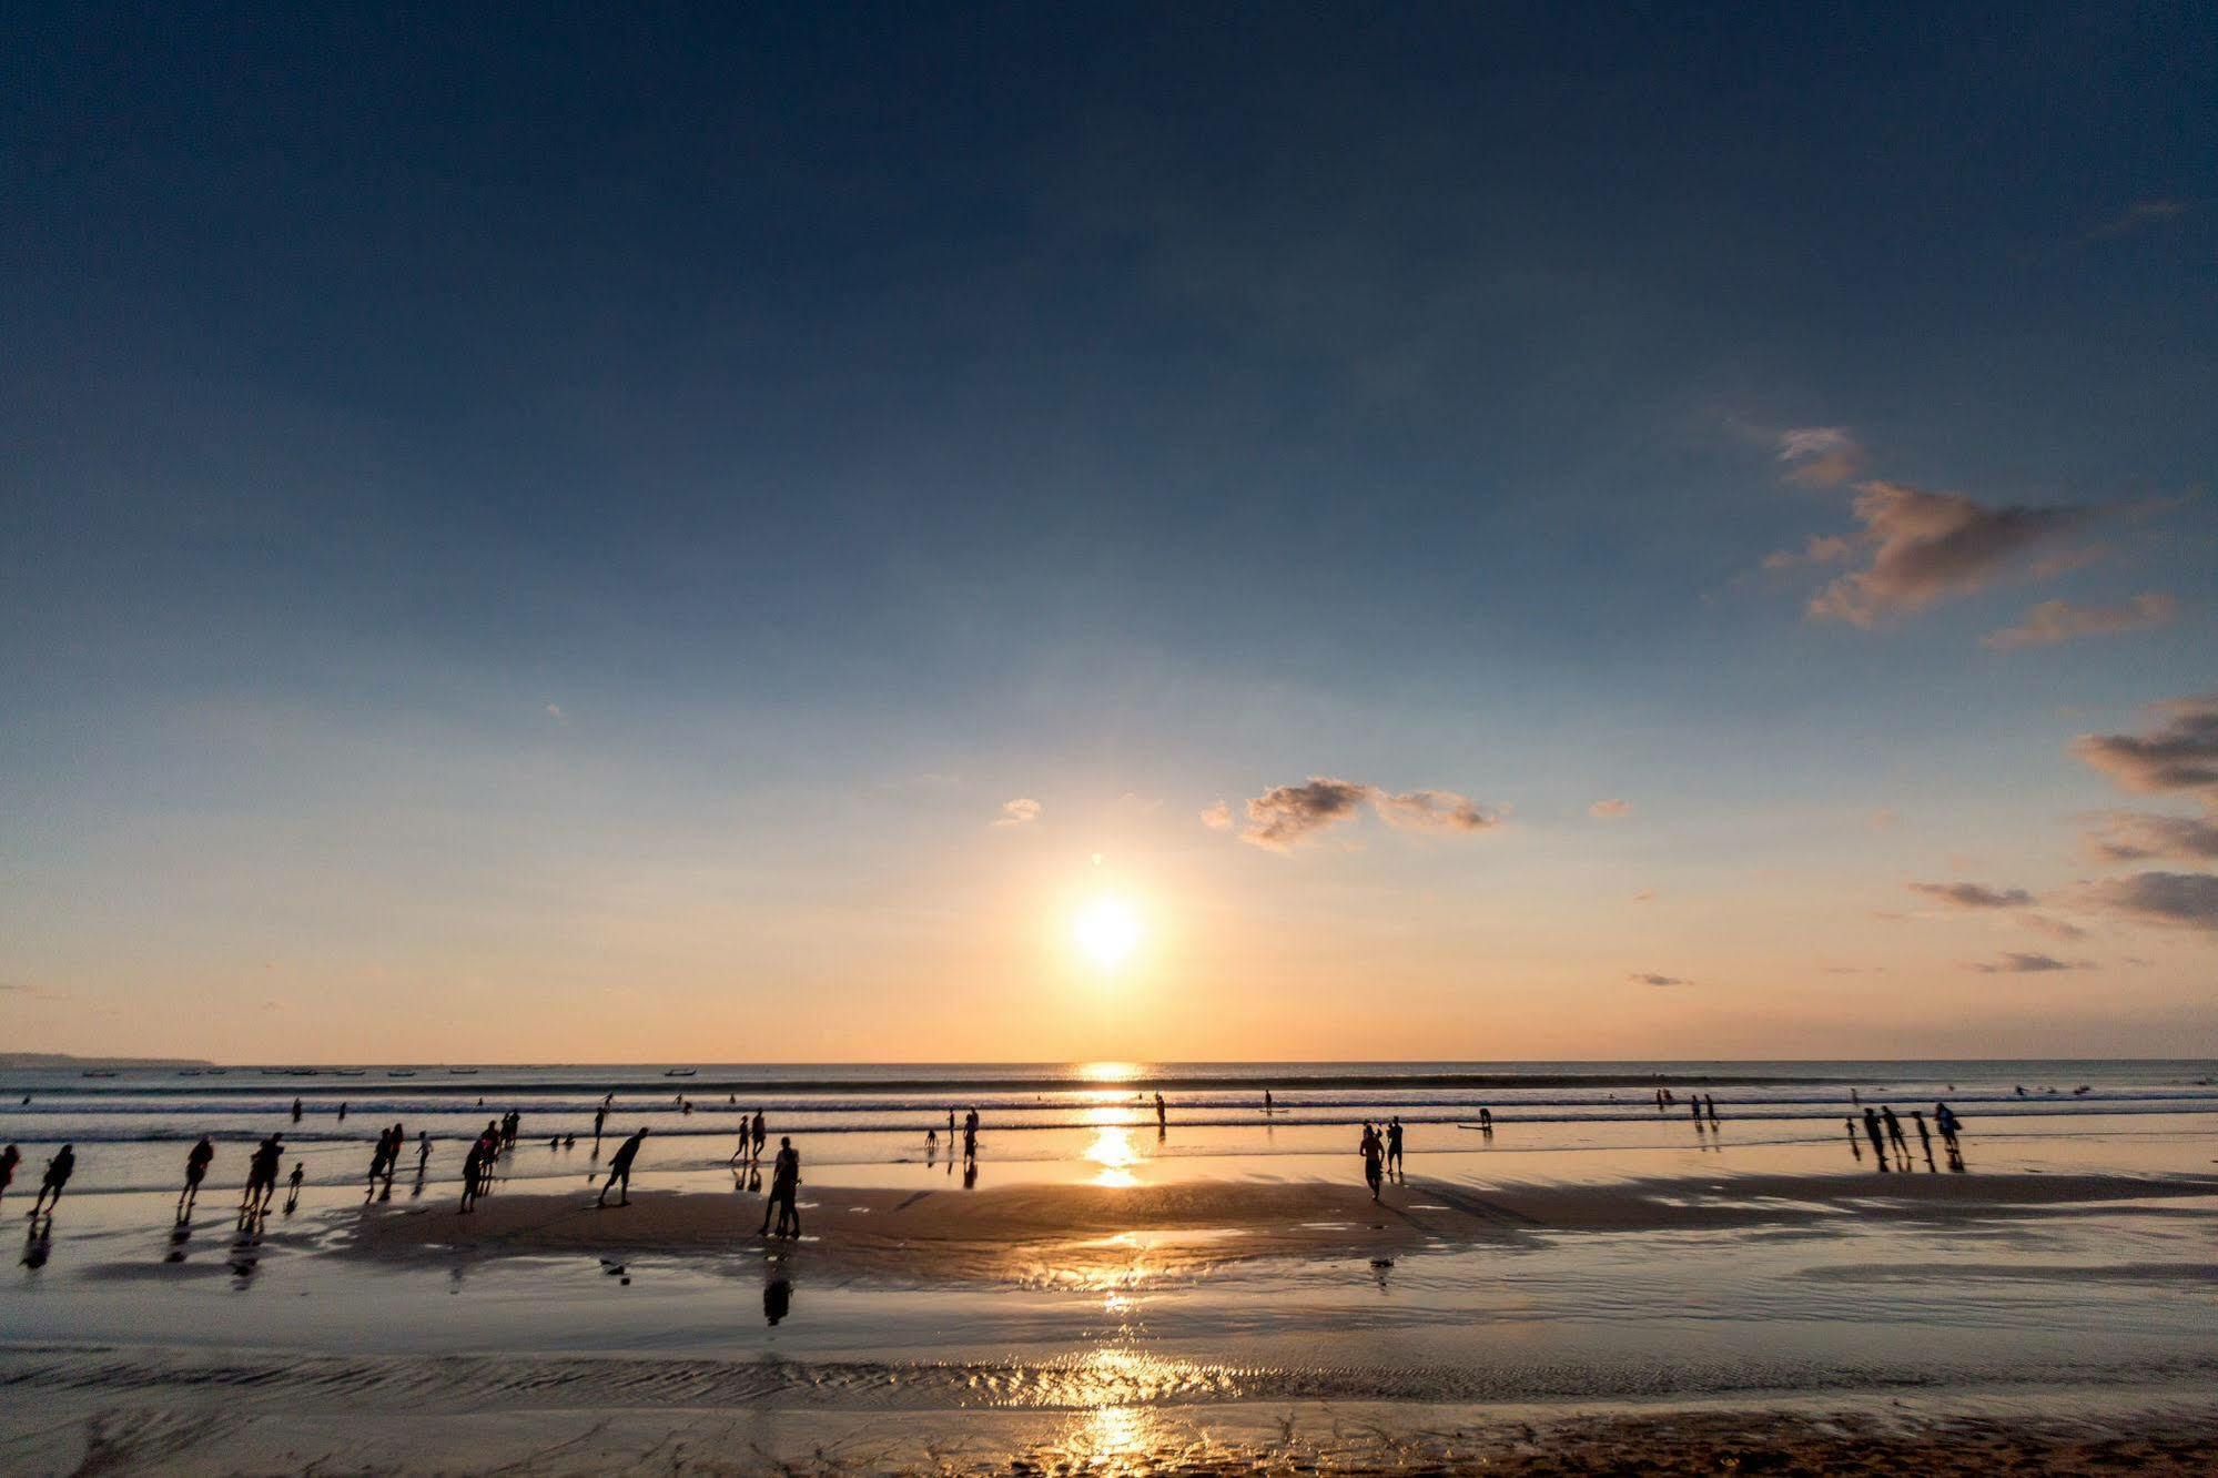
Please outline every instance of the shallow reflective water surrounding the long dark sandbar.
[[[2200, 1110], [1976, 1125], [1965, 1183], [2003, 1172], [2156, 1183], [2218, 1170], [2218, 1121]], [[994, 1158], [1011, 1141], [1022, 1158]], [[965, 1194], [965, 1174], [923, 1158], [907, 1134], [803, 1138], [803, 1150], [805, 1216], [845, 1209], [843, 1192]], [[728, 1198], [752, 1216], [761, 1198], [719, 1158], [696, 1141], [665, 1145], [643, 1158], [637, 1185]], [[339, 1181], [337, 1161], [330, 1170]], [[495, 1198], [590, 1201], [592, 1170], [583, 1145], [523, 1145]], [[1158, 1138], [1151, 1123], [1113, 1121], [989, 1134], [974, 1185], [1346, 1185], [1355, 1172], [1344, 1127], [1173, 1121]], [[1841, 1196], [1843, 1174], [1868, 1176], [1870, 1194]], [[929, 1429], [989, 1409], [1144, 1425], [1151, 1411], [1271, 1403], [1770, 1407], [1825, 1396], [1856, 1409], [1914, 1398], [1976, 1411], [2089, 1389], [2120, 1400], [2218, 1391], [2218, 1196], [2065, 1198], [1945, 1218], [1890, 1209], [1905, 1185], [1934, 1176], [1958, 1178], [1916, 1152], [1907, 1170], [1881, 1174], [1870, 1147], [1852, 1152], [1839, 1116], [1832, 1132], [1794, 1121], [1695, 1132], [1675, 1116], [1502, 1125], [1490, 1138], [1431, 1125], [1413, 1127], [1408, 1178], [1388, 1187], [1391, 1203], [1637, 1185], [1666, 1205], [1746, 1203], [1750, 1218], [1664, 1232], [1515, 1227], [1484, 1243], [1402, 1245], [1380, 1261], [1218, 1256], [1249, 1236], [1238, 1225], [1087, 1229], [1029, 1238], [991, 1280], [810, 1272], [807, 1256], [750, 1238], [637, 1252], [623, 1245], [621, 1212], [599, 1254], [379, 1263], [342, 1256], [364, 1214], [359, 1183], [319, 1174], [291, 1216], [253, 1234], [231, 1216], [235, 1187], [211, 1185], [180, 1236], [173, 1194], [100, 1190], [84, 1176], [51, 1236], [11, 1245], [0, 1278], [0, 1387], [11, 1391], [0, 1442], [27, 1440], [29, 1414], [91, 1420], [144, 1407], [335, 1423], [617, 1407], [912, 1414]], [[1828, 1190], [1797, 1194], [1803, 1183]], [[404, 1176], [384, 1209], [455, 1221], [452, 1196], [437, 1174], [421, 1185]], [[1105, 1236], [1118, 1256], [1100, 1256]]]

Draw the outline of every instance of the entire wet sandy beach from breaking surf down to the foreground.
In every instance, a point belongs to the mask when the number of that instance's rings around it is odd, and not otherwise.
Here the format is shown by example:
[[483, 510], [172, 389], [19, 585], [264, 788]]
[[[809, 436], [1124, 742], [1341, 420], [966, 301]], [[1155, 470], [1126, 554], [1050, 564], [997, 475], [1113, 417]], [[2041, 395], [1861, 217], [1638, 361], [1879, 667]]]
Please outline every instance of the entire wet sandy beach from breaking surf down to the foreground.
[[[1388, 1085], [1364, 1092], [1435, 1121], [1377, 1203], [1349, 1127], [1315, 1123], [1346, 1094], [1158, 1132], [1129, 1094], [1014, 1090], [998, 1112], [1040, 1127], [989, 1121], [963, 1165], [836, 1090], [779, 1110], [805, 1152], [801, 1238], [759, 1236], [761, 1178], [670, 1107], [630, 1205], [597, 1207], [606, 1165], [563, 1145], [594, 1101], [568, 1087], [526, 1099], [550, 1138], [519, 1141], [472, 1214], [450, 1147], [364, 1196], [328, 1114], [299, 1205], [246, 1227], [224, 1181], [173, 1225], [173, 1143], [89, 1138], [84, 1187], [24, 1223], [0, 1289], [0, 1462], [2207, 1471], [2218, 1136], [2196, 1076], [2120, 1076], [2094, 1103], [1967, 1087], [1963, 1170], [1881, 1170], [1832, 1085], [1739, 1087], [1715, 1130], [1530, 1087], [1493, 1099], [1495, 1134]], [[126, 1123], [186, 1112], [75, 1092]], [[291, 1118], [282, 1094], [189, 1092], [240, 1138]], [[426, 1116], [397, 1099], [421, 1087], [348, 1092]]]

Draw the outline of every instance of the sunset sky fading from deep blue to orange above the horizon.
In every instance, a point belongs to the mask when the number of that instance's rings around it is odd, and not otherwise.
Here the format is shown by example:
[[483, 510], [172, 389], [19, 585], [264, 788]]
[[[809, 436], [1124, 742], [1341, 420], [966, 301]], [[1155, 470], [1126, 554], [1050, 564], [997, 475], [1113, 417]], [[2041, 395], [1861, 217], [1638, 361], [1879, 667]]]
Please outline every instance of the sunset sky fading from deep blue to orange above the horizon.
[[2207, 9], [459, 11], [0, 20], [7, 1047], [2218, 1054]]

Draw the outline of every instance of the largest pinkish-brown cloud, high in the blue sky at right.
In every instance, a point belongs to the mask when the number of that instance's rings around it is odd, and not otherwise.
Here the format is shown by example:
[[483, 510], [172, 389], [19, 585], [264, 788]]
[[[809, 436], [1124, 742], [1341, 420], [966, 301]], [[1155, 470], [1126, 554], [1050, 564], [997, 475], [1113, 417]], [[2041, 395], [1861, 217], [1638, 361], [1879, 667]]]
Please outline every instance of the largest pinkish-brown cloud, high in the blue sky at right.
[[2089, 517], [2085, 508], [1998, 508], [1896, 482], [1861, 484], [1854, 513], [1863, 524], [1854, 541], [1870, 550], [1870, 564], [1810, 597], [1812, 617], [1852, 626], [1970, 595]]

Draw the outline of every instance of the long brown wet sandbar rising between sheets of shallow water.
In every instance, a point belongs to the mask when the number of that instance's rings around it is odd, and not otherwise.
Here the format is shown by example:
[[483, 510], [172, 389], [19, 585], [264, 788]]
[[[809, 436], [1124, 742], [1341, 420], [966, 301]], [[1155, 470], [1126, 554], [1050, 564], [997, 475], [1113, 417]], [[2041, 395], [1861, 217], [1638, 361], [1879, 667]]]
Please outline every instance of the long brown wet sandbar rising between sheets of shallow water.
[[[1244, 1258], [1391, 1258], [1426, 1247], [1513, 1243], [1579, 1232], [1723, 1232], [1837, 1218], [1950, 1223], [2067, 1216], [2140, 1203], [2163, 1214], [2218, 1196], [2218, 1176], [1730, 1176], [1708, 1183], [1495, 1185], [1413, 1176], [1373, 1203], [1329, 1181], [1173, 1181], [1162, 1185], [1011, 1185], [991, 1190], [814, 1190], [801, 1241], [763, 1238], [761, 1201], [639, 1192], [503, 1192], [472, 1214], [452, 1205], [368, 1207], [342, 1243], [350, 1256], [450, 1265], [464, 1258], [730, 1254], [774, 1249], [794, 1272], [885, 1280], [1100, 1280], [1116, 1269], [1191, 1272]], [[2174, 1203], [2167, 1207], [2167, 1203]]]

